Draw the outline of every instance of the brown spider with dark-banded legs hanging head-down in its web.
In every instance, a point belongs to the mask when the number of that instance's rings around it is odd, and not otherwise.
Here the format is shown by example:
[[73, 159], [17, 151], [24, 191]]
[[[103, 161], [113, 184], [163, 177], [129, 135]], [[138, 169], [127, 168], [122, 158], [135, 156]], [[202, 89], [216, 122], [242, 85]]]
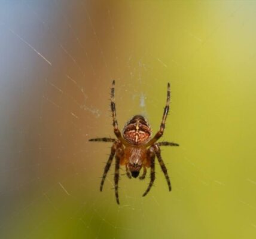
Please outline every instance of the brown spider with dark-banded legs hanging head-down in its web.
[[160, 130], [157, 131], [155, 136], [151, 138], [152, 131], [150, 124], [142, 115], [135, 115], [130, 119], [123, 128], [123, 136], [117, 125], [117, 116], [115, 113], [115, 81], [112, 82], [111, 88], [111, 112], [112, 120], [114, 127], [114, 134], [117, 139], [112, 139], [108, 137], [90, 139], [89, 141], [97, 142], [112, 142], [111, 153], [109, 155], [108, 161], [106, 163], [102, 180], [100, 182], [100, 191], [103, 189], [103, 184], [106, 179], [106, 174], [109, 171], [113, 158], [115, 156], [115, 173], [114, 173], [114, 182], [115, 182], [115, 198], [117, 204], [119, 203], [118, 197], [118, 180], [119, 180], [119, 168], [120, 166], [126, 167], [127, 177], [130, 179], [132, 177], [138, 177], [139, 171], [143, 168], [143, 173], [139, 179], [145, 179], [147, 174], [147, 168], [150, 168], [150, 184], [148, 185], [147, 190], [142, 195], [143, 197], [148, 194], [151, 187], [153, 186], [155, 180], [155, 158], [159, 161], [161, 170], [164, 173], [164, 176], [167, 181], [169, 191], [171, 191], [170, 179], [167, 174], [166, 166], [163, 163], [160, 153], [160, 146], [179, 146], [178, 143], [172, 142], [160, 142], [157, 143], [157, 140], [163, 135], [164, 126], [167, 114], [169, 112], [169, 103], [170, 103], [170, 84], [167, 84], [167, 100], [166, 106], [163, 112], [163, 118], [160, 124]]

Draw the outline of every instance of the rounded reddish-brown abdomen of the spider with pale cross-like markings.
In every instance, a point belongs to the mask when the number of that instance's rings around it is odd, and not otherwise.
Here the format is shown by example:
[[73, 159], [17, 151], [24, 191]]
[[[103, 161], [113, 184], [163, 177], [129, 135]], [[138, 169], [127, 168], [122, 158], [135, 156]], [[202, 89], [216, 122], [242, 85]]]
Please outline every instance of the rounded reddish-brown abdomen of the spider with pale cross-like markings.
[[123, 129], [124, 139], [135, 145], [148, 142], [151, 137], [151, 128], [142, 115], [135, 115]]

